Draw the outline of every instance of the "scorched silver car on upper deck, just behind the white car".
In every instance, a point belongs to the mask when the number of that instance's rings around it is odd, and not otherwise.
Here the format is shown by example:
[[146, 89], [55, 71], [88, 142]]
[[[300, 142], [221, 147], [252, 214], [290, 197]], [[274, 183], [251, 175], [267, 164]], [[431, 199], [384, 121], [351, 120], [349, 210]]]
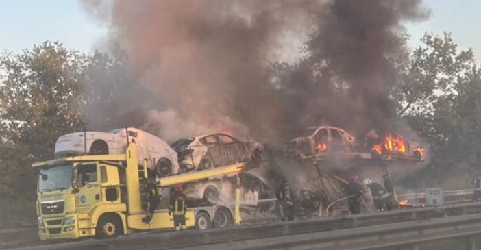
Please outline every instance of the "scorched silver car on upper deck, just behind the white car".
[[182, 138], [171, 147], [178, 153], [182, 173], [260, 160], [264, 149], [259, 142], [242, 142], [221, 133]]

